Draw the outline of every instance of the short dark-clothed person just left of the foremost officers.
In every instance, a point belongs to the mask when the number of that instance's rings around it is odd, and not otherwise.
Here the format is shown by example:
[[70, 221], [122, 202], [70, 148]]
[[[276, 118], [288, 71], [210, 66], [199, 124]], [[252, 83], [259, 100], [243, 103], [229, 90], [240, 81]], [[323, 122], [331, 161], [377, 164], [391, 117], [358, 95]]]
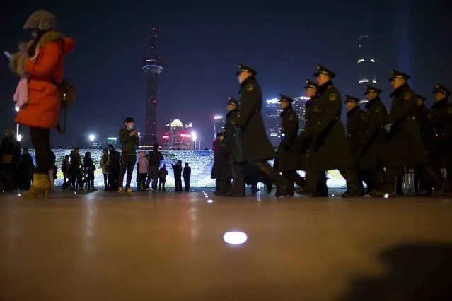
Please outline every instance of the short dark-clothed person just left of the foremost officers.
[[211, 179], [215, 179], [216, 196], [227, 194], [231, 190], [231, 164], [229, 163], [230, 153], [225, 152], [221, 148], [221, 141], [223, 141], [223, 132], [216, 134], [216, 139], [213, 143], [214, 149], [214, 165], [212, 166]]

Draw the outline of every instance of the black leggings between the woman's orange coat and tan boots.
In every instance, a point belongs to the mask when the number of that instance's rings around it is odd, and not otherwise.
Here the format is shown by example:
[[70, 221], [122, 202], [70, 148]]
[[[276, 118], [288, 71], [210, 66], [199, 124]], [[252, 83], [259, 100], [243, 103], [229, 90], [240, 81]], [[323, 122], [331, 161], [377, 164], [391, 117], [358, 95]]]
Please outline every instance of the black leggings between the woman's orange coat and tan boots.
[[49, 172], [52, 165], [50, 158], [50, 129], [42, 129], [39, 127], [30, 127], [31, 143], [35, 147], [36, 152], [36, 170], [37, 174], [45, 174]]

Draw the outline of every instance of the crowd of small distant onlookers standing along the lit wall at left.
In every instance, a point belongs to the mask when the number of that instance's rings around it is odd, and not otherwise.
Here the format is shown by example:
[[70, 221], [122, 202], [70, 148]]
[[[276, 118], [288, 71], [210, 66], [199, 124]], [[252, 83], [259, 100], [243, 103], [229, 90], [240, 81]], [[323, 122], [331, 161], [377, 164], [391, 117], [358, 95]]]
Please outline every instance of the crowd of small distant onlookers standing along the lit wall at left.
[[[56, 157], [52, 152], [52, 168], [49, 170], [51, 190], [54, 190], [54, 179], [57, 179], [58, 168]], [[27, 148], [23, 148], [14, 137], [13, 131], [7, 130], [0, 146], [1, 158], [1, 187], [4, 191], [28, 190], [33, 181], [35, 164]], [[168, 170], [166, 164], [161, 165], [163, 155], [159, 146], [154, 146], [153, 151], [146, 153], [140, 151], [137, 160], [137, 189], [138, 191], [166, 191], [166, 177]], [[120, 172], [121, 154], [112, 145], [103, 150], [99, 166], [103, 174], [105, 191], [121, 191]], [[178, 160], [172, 165], [175, 178], [175, 191], [190, 191], [191, 167]], [[65, 155], [62, 160], [61, 172], [63, 175], [62, 189], [67, 191], [96, 191], [94, 186], [96, 166], [91, 158], [91, 152], [87, 151], [83, 157], [79, 148], [71, 150], [70, 155]], [[124, 175], [122, 175], [124, 177]], [[182, 188], [182, 177], [184, 187]], [[127, 191], [133, 192], [132, 189]]]

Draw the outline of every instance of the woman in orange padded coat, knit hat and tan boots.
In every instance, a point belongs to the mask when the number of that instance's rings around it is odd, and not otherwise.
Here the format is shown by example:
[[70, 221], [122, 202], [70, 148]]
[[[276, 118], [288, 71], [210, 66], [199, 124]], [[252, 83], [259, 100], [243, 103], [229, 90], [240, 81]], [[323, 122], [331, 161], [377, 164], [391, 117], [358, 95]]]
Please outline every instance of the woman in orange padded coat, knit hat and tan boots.
[[47, 175], [51, 165], [49, 136], [50, 129], [58, 124], [62, 101], [57, 85], [63, 79], [64, 55], [74, 47], [74, 40], [55, 30], [56, 24], [52, 13], [35, 11], [24, 26], [31, 30], [33, 40], [28, 42], [26, 52], [18, 52], [11, 58], [11, 69], [18, 76], [28, 78], [24, 91], [28, 97], [21, 104], [16, 122], [30, 126], [30, 138], [36, 152], [33, 187], [23, 193], [25, 198], [36, 198], [41, 193], [47, 198], [50, 190]]

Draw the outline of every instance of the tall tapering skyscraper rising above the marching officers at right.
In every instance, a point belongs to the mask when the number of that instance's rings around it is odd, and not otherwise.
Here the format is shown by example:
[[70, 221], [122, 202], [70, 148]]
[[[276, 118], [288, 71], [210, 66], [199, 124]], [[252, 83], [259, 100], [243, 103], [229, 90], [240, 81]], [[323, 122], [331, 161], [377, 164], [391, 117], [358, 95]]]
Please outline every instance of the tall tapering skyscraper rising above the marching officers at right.
[[358, 35], [358, 83], [377, 83], [375, 74], [375, 55], [372, 52], [371, 40], [361, 20], [357, 20]]

